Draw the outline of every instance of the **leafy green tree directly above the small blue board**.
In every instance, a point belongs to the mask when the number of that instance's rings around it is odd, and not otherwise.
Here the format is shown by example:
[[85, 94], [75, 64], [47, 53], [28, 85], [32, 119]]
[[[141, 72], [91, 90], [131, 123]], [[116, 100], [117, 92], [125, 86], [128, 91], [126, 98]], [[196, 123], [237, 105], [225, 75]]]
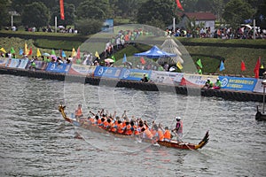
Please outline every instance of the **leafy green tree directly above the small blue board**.
[[111, 14], [108, 0], [87, 0], [77, 7], [77, 19], [106, 19]]

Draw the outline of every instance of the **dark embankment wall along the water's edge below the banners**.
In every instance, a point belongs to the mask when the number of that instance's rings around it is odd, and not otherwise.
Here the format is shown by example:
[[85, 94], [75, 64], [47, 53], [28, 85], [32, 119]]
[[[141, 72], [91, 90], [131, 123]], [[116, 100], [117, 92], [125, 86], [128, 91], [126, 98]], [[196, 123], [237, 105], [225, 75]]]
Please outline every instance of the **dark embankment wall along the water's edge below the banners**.
[[[128, 88], [128, 89], [139, 89], [145, 91], [173, 91], [175, 87], [176, 94], [186, 95], [186, 96], [215, 96], [222, 97], [225, 100], [234, 101], [252, 101], [252, 102], [262, 102], [263, 95], [261, 93], [244, 92], [244, 91], [233, 91], [228, 89], [199, 89], [184, 86], [172, 86], [169, 87], [167, 84], [152, 83], [152, 82], [140, 82], [140, 81], [125, 81], [119, 79], [107, 79], [103, 77], [94, 76], [81, 76], [66, 73], [50, 73], [45, 71], [30, 71], [19, 68], [7, 68], [0, 67], [0, 74], [12, 74], [17, 76], [27, 76], [33, 78], [42, 78], [46, 80], [58, 80], [58, 81], [73, 81], [82, 82], [91, 85], [106, 85], [108, 87], [115, 88]], [[67, 77], [67, 80], [66, 80]]]

